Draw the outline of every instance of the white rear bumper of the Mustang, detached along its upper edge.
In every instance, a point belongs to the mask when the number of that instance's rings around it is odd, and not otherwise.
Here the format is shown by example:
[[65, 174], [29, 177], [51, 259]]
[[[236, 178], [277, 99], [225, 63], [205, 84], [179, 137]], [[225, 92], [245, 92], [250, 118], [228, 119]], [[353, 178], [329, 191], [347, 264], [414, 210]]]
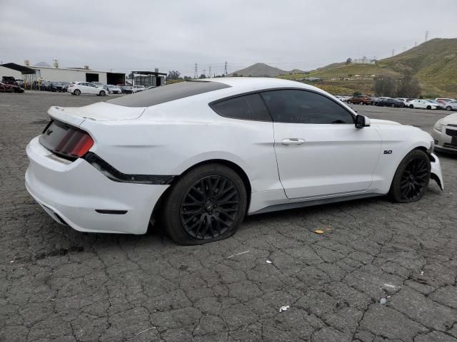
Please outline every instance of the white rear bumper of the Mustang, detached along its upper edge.
[[114, 182], [86, 160], [61, 160], [38, 137], [26, 152], [30, 195], [57, 222], [80, 232], [144, 234], [156, 202], [169, 187]]

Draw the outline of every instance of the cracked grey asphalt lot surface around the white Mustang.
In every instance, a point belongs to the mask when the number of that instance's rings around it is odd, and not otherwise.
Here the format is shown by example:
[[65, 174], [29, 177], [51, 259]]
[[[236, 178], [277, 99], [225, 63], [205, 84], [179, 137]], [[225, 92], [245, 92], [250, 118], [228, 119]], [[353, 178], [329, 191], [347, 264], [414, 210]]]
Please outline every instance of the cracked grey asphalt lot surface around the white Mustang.
[[[198, 247], [84, 234], [28, 195], [25, 147], [50, 105], [99, 100], [0, 94], [0, 341], [457, 341], [457, 157], [416, 203], [262, 214]], [[428, 131], [446, 115], [353, 108]]]

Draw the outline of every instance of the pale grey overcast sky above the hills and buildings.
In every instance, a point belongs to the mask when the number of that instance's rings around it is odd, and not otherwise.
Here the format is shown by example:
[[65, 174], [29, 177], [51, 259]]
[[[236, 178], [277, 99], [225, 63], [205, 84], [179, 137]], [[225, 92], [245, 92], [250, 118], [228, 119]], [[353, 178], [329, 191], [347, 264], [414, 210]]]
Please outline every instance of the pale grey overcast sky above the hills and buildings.
[[0, 61], [129, 72], [311, 70], [455, 38], [457, 0], [0, 0]]

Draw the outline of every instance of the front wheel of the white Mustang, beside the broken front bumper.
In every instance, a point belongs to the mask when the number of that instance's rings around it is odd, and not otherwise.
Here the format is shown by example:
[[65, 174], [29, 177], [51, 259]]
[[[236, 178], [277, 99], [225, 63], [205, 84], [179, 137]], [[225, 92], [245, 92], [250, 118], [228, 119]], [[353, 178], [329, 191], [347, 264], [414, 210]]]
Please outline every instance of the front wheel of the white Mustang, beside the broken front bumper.
[[430, 170], [430, 160], [426, 152], [412, 150], [398, 165], [388, 196], [398, 203], [418, 201], [426, 192]]

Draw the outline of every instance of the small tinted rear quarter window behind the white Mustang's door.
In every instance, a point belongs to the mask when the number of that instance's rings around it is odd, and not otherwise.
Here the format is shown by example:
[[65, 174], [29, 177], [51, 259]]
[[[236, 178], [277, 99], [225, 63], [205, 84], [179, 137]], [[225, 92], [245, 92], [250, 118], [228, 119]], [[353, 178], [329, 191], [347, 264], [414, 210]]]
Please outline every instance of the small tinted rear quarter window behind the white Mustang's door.
[[271, 121], [268, 109], [259, 94], [243, 95], [229, 98], [210, 107], [219, 115], [242, 120]]

